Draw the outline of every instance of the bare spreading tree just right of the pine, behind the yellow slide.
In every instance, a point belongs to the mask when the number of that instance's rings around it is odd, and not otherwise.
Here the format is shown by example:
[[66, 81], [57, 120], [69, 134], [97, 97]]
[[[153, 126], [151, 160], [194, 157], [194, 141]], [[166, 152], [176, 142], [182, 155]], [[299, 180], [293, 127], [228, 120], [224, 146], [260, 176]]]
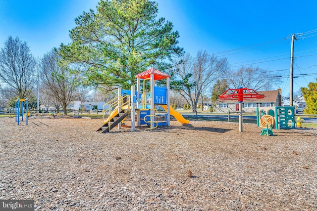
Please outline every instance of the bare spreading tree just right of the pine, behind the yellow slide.
[[172, 73], [176, 80], [171, 81], [171, 88], [186, 99], [192, 112], [196, 112], [199, 97], [227, 68], [226, 58], [218, 58], [206, 51], [199, 51], [194, 59], [186, 54]]

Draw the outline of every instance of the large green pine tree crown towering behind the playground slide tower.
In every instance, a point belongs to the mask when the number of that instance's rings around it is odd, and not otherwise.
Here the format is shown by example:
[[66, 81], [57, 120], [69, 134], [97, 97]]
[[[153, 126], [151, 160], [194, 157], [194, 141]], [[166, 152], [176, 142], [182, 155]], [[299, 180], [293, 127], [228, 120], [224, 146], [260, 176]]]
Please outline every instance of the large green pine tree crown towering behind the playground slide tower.
[[81, 65], [84, 84], [129, 89], [135, 75], [150, 66], [170, 67], [166, 61], [181, 55], [178, 32], [150, 0], [101, 0], [97, 12], [83, 12], [70, 31], [72, 42], [61, 44], [61, 55]]

